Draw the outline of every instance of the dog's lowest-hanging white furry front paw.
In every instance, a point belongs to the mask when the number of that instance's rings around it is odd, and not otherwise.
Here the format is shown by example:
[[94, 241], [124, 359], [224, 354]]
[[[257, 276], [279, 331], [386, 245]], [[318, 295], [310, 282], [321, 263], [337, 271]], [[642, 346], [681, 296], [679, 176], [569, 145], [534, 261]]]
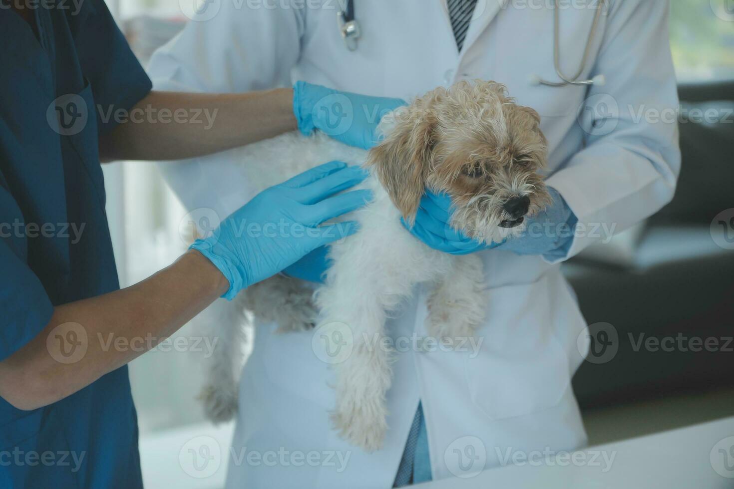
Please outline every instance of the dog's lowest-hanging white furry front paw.
[[351, 408], [338, 406], [331, 414], [331, 420], [339, 436], [349, 444], [365, 452], [374, 452], [382, 448], [388, 431], [385, 411], [379, 402], [367, 401]]

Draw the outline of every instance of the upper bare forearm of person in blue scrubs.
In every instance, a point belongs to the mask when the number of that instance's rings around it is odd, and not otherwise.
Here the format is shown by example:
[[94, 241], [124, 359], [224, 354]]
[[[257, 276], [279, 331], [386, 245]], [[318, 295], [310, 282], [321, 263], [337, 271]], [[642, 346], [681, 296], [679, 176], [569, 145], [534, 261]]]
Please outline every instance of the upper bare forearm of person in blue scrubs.
[[119, 122], [100, 139], [102, 161], [195, 158], [297, 129], [292, 89], [150, 92]]

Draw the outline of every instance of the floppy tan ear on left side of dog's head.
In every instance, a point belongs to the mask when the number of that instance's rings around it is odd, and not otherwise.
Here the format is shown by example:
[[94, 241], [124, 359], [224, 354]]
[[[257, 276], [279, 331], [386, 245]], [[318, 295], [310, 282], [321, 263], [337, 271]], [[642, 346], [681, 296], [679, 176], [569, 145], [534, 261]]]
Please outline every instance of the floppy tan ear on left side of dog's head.
[[370, 150], [367, 165], [374, 169], [393, 204], [412, 225], [431, 165], [435, 118], [419, 103], [398, 109], [388, 117], [395, 117], [393, 128], [382, 143]]

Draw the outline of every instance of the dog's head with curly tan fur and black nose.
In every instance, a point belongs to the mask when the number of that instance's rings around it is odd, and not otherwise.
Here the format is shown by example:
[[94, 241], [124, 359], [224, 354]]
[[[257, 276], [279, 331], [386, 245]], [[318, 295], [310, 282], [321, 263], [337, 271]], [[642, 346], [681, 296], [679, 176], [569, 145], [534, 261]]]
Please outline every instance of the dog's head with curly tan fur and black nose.
[[494, 81], [440, 87], [383, 118], [367, 164], [410, 223], [424, 188], [454, 202], [451, 224], [490, 241], [517, 235], [550, 204], [538, 174], [548, 144], [540, 116]]

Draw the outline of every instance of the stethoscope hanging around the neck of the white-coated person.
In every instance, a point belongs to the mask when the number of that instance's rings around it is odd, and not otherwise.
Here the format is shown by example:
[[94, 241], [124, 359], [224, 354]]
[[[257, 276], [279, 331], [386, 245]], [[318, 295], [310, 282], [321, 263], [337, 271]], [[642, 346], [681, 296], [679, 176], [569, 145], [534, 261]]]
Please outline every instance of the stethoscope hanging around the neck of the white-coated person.
[[[553, 66], [556, 68], [556, 73], [562, 81], [547, 81], [541, 78], [539, 75], [531, 77], [531, 84], [533, 85], [545, 85], [546, 87], [566, 87], [567, 85], [603, 85], [606, 84], [606, 77], [603, 75], [597, 75], [590, 80], [579, 80], [581, 73], [584, 73], [586, 63], [589, 60], [589, 54], [591, 54], [592, 43], [596, 37], [597, 30], [599, 29], [599, 21], [603, 11], [605, 0], [601, 0], [597, 6], [596, 14], [594, 15], [594, 22], [592, 23], [591, 32], [589, 37], [586, 39], [586, 48], [584, 48], [584, 57], [581, 58], [581, 65], [578, 67], [578, 71], [574, 76], [566, 76], [561, 70], [561, 6], [560, 0], [555, 0], [556, 8], [553, 12]], [[346, 0], [344, 10], [337, 13], [339, 22], [339, 32], [341, 37], [344, 38], [346, 48], [349, 51], [357, 50], [357, 40], [362, 36], [362, 29], [360, 29], [360, 23], [355, 18], [355, 2], [354, 0]]]

